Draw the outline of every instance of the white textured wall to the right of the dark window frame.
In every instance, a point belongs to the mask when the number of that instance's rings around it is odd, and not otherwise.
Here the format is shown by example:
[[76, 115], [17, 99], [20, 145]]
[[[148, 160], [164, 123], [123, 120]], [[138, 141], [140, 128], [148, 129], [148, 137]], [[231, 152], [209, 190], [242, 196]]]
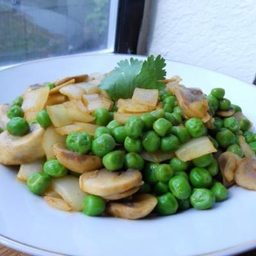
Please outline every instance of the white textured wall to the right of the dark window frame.
[[255, 0], [152, 2], [148, 54], [163, 54], [252, 83], [256, 73]]

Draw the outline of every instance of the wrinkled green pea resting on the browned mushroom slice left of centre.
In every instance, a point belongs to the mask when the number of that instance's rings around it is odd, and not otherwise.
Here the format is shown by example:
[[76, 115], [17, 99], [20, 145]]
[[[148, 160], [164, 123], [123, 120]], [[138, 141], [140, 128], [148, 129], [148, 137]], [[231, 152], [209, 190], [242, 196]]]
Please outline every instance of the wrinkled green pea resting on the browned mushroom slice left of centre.
[[92, 148], [92, 138], [86, 132], [72, 132], [67, 136], [66, 146], [76, 153], [87, 154]]

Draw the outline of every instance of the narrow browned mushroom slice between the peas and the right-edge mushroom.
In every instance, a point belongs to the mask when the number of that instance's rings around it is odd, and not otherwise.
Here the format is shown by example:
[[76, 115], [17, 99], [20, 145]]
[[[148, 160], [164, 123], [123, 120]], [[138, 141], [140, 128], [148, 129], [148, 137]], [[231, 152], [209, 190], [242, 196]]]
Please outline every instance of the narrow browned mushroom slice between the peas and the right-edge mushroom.
[[227, 188], [234, 185], [234, 175], [239, 161], [241, 158], [232, 152], [225, 152], [218, 158], [223, 184]]

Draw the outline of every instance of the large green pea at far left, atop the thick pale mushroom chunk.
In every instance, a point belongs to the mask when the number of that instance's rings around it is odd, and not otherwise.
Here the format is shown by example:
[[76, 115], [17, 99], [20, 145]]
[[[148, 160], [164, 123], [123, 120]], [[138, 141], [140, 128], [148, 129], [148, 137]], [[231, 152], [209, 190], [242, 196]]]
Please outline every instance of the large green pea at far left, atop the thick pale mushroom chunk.
[[22, 117], [13, 117], [6, 125], [7, 131], [13, 136], [23, 136], [29, 132], [28, 122]]

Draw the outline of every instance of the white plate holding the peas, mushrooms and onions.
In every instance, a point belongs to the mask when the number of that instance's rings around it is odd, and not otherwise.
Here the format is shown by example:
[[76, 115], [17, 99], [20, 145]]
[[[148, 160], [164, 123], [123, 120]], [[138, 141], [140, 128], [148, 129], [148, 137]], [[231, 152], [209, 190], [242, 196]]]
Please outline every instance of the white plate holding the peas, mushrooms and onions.
[[[91, 72], [108, 72], [124, 55], [68, 56], [33, 61], [0, 72], [0, 102], [11, 102], [28, 84]], [[138, 57], [143, 60], [143, 57]], [[256, 90], [251, 84], [173, 61], [167, 77], [209, 93], [223, 87], [256, 123]], [[256, 246], [256, 192], [234, 187], [230, 198], [209, 211], [189, 211], [148, 220], [90, 218], [52, 209], [15, 179], [15, 168], [0, 166], [0, 243], [31, 255], [227, 255]], [[60, 254], [58, 254], [60, 255]]]

